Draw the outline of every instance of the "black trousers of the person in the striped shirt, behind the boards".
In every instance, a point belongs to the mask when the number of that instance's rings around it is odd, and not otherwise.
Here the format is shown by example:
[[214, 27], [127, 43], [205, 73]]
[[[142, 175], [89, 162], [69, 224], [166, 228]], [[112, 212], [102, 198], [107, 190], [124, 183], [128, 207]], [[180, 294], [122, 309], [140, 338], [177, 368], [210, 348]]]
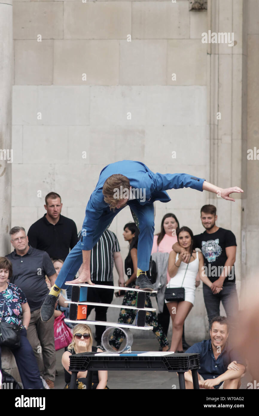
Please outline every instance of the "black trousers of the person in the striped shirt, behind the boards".
[[[98, 282], [93, 280], [95, 285], [106, 285], [106, 286], [113, 286], [113, 282]], [[87, 302], [96, 302], [96, 303], [111, 303], [113, 300], [113, 292], [114, 290], [111, 289], [88, 289], [87, 290]], [[89, 316], [92, 309], [95, 309], [95, 320], [96, 321], [104, 321], [106, 322], [106, 313], [108, 307], [104, 306], [94, 306], [94, 305], [87, 305], [87, 312], [86, 318]], [[106, 327], [103, 325], [96, 325], [95, 326], [95, 340], [97, 344], [101, 344], [101, 337], [104, 333]]]

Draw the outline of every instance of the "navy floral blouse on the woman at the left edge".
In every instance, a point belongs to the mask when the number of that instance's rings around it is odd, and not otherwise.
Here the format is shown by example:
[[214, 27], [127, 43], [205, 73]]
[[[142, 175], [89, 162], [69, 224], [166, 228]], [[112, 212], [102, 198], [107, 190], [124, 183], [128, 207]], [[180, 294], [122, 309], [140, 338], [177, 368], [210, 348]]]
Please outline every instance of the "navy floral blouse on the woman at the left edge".
[[27, 302], [20, 287], [8, 283], [7, 289], [0, 292], [0, 321], [21, 325], [22, 305]]

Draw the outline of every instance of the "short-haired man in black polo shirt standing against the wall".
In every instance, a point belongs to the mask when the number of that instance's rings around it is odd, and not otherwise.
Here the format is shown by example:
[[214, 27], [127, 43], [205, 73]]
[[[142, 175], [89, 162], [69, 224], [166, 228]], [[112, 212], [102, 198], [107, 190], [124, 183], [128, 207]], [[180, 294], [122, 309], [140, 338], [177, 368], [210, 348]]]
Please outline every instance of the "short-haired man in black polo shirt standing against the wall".
[[29, 228], [29, 243], [34, 248], [47, 251], [50, 258], [64, 261], [69, 249], [72, 250], [77, 243], [76, 224], [60, 215], [62, 203], [58, 193], [49, 192], [46, 195], [44, 208], [47, 214]]

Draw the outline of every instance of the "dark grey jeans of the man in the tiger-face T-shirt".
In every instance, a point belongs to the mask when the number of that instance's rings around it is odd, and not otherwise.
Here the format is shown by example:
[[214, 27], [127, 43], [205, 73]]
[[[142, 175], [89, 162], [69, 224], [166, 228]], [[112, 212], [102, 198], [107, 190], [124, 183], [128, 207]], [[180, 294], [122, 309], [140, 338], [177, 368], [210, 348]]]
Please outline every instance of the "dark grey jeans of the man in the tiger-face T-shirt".
[[220, 316], [220, 301], [224, 306], [224, 310], [227, 314], [227, 319], [230, 325], [238, 313], [238, 298], [237, 289], [235, 283], [227, 283], [223, 286], [220, 293], [213, 295], [210, 287], [203, 285], [203, 297], [207, 310], [209, 322], [212, 318]]

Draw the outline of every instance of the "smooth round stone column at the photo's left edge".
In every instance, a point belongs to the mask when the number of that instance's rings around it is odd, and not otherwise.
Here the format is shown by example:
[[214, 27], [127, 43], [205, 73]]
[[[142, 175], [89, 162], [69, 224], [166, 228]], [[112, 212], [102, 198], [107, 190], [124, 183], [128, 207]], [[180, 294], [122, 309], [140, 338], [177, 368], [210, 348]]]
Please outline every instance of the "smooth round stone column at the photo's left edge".
[[12, 60], [12, 0], [0, 0], [0, 256], [10, 251]]

